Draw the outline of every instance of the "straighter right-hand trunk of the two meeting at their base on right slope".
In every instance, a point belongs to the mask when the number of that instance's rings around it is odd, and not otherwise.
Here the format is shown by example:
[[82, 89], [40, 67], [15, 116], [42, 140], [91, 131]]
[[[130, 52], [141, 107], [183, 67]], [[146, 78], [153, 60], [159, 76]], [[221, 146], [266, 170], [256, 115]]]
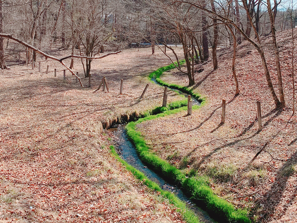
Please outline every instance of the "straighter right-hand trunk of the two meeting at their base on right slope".
[[280, 99], [280, 103], [281, 103], [282, 107], [284, 108], [286, 106], [286, 104], [284, 101], [283, 81], [282, 81], [282, 74], [281, 74], [280, 61], [279, 61], [279, 48], [277, 47], [277, 43], [276, 43], [274, 15], [271, 10], [270, 0], [267, 0], [267, 9], [268, 9], [268, 14], [269, 14], [269, 18], [270, 18], [272, 42], [273, 42], [274, 54], [275, 54], [275, 62], [276, 62], [276, 70], [277, 70], [278, 86], [279, 86], [279, 99]]

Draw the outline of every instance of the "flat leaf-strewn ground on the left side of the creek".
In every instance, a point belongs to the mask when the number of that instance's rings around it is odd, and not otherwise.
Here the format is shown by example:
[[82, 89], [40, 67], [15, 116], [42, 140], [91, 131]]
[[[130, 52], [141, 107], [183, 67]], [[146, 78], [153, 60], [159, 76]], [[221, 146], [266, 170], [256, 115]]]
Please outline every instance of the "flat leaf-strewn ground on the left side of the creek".
[[[163, 88], [147, 76], [170, 61], [160, 50], [150, 54], [131, 48], [94, 60], [91, 89], [75, 84], [68, 71], [63, 80], [64, 68], [44, 58], [41, 72], [38, 61], [34, 70], [19, 64], [0, 71], [0, 222], [183, 222], [112, 157], [102, 134], [102, 122], [162, 103]], [[80, 60], [74, 70], [83, 77]], [[93, 94], [103, 75], [109, 93]], [[177, 99], [171, 92], [168, 100]]]

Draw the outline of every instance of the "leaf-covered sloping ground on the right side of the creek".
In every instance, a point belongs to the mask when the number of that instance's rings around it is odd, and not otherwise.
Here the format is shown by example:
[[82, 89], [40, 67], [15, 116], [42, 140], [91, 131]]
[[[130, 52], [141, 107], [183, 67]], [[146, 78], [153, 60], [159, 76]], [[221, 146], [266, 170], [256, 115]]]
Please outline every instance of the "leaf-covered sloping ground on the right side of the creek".
[[[297, 29], [294, 33], [297, 34]], [[262, 41], [278, 95], [271, 36], [263, 37]], [[237, 48], [235, 61], [238, 96], [234, 96], [231, 70], [233, 49], [220, 49], [219, 68], [213, 71], [210, 61], [201, 73], [195, 74], [193, 88], [207, 98], [205, 106], [190, 116], [183, 112], [143, 122], [138, 129], [156, 154], [186, 173], [193, 169], [197, 175], [209, 176], [219, 196], [251, 210], [256, 222], [293, 223], [297, 220], [297, 116], [292, 115], [289, 31], [277, 32], [277, 41], [286, 101], [284, 110], [275, 109], [259, 53], [244, 41]], [[296, 62], [295, 57], [295, 66]], [[199, 67], [197, 65], [197, 69]], [[188, 84], [187, 77], [178, 70], [164, 73], [161, 79]], [[221, 124], [222, 99], [226, 99], [224, 124]], [[261, 102], [262, 131], [258, 131], [257, 101]], [[266, 142], [265, 150], [248, 165]]]

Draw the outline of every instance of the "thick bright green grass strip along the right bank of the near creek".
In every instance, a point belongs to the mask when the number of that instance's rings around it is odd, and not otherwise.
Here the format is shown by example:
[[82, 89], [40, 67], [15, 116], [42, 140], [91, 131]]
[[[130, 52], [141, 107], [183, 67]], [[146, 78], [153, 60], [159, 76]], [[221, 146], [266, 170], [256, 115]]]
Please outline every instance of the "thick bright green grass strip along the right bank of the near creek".
[[[200, 106], [194, 105], [192, 109], [198, 109]], [[185, 192], [191, 195], [193, 200], [195, 200], [200, 206], [203, 206], [211, 216], [220, 220], [220, 222], [249, 223], [250, 220], [247, 217], [246, 210], [236, 209], [231, 203], [219, 198], [214, 194], [209, 185], [205, 183], [204, 179], [196, 177], [188, 178], [181, 170], [170, 165], [167, 161], [162, 160], [157, 155], [154, 155], [150, 152], [150, 148], [147, 146], [147, 143], [141, 133], [136, 130], [136, 125], [143, 121], [175, 114], [186, 109], [187, 107], [184, 106], [168, 110], [160, 114], [148, 115], [135, 122], [127, 124], [126, 130], [128, 137], [134, 143], [139, 158], [167, 180], [180, 185]]]

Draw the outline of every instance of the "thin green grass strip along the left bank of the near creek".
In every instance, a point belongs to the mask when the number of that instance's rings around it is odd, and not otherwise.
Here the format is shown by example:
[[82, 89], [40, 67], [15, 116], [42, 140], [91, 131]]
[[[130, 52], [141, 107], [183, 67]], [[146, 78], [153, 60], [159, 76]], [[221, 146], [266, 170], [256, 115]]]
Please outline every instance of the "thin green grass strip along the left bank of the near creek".
[[170, 191], [162, 190], [158, 184], [149, 180], [142, 172], [136, 170], [133, 166], [129, 165], [125, 160], [121, 159], [120, 156], [114, 149], [114, 146], [110, 146], [110, 151], [114, 158], [116, 158], [120, 163], [122, 163], [125, 168], [130, 171], [138, 180], [142, 181], [144, 185], [147, 185], [150, 189], [160, 192], [162, 196], [167, 198], [171, 204], [173, 204], [177, 209], [176, 211], [180, 212], [184, 220], [187, 223], [199, 223], [198, 217], [194, 214], [193, 211], [189, 210], [186, 207], [186, 204], [181, 201], [177, 196], [175, 196]]

